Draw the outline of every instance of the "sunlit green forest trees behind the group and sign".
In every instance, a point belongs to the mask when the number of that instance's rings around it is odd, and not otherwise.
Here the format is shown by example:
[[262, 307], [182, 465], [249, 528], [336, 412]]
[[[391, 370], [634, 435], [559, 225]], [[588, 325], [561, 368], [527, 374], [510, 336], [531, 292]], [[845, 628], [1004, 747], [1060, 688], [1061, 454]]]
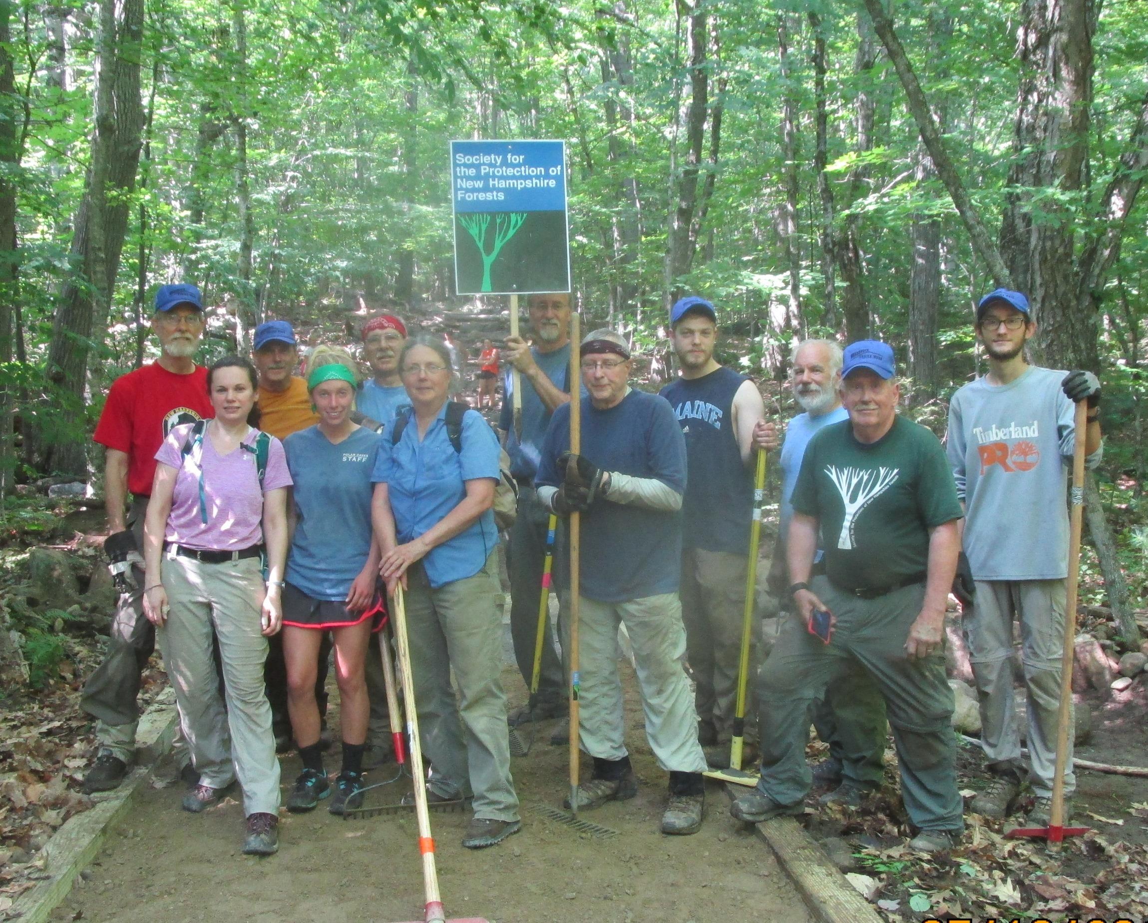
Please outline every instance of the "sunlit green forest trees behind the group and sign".
[[938, 432], [976, 300], [1029, 293], [1032, 358], [1104, 382], [1086, 572], [1139, 643], [1138, 0], [0, 0], [0, 502], [98, 464], [157, 285], [203, 289], [207, 358], [269, 317], [459, 308], [455, 138], [567, 140], [588, 318], [654, 349], [703, 294], [774, 381], [794, 338], [879, 336]]

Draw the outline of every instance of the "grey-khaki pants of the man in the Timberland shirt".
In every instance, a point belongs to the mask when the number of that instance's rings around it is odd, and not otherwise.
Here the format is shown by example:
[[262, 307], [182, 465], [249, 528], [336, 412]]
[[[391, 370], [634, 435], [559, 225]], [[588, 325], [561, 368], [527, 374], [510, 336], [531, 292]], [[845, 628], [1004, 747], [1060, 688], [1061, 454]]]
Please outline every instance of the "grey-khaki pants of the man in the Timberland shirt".
[[[1013, 707], [1013, 619], [1021, 622], [1024, 684], [1029, 691], [1029, 753], [1032, 790], [1053, 793], [1056, 775], [1056, 729], [1061, 701], [1061, 654], [1064, 647], [1063, 580], [977, 582], [972, 611], [963, 630], [980, 705], [980, 745], [991, 769], [1021, 770], [1021, 736]], [[1069, 726], [1072, 716], [1070, 712]], [[1069, 734], [1064, 793], [1076, 791], [1072, 734]]]

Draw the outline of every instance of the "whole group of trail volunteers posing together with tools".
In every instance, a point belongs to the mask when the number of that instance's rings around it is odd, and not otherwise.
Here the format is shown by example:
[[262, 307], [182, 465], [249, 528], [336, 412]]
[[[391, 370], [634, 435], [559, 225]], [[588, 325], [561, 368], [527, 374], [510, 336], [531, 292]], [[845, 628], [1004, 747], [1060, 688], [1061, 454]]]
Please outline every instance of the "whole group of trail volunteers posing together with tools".
[[[140, 670], [158, 634], [186, 740], [178, 751], [191, 786], [185, 809], [216, 804], [238, 777], [243, 850], [273, 853], [276, 753], [292, 744], [303, 770], [289, 810], [327, 797], [335, 814], [362, 805], [364, 773], [389, 755], [378, 630], [401, 585], [427, 794], [471, 800], [464, 846], [517, 832], [509, 727], [558, 719], [552, 739], [567, 735], [566, 543], [560, 534], [559, 637], [548, 620], [537, 692], [507, 715], [492, 512], [499, 439], [479, 412], [450, 400], [450, 344], [410, 336], [401, 318], [379, 315], [362, 329], [371, 378], [360, 381], [356, 359], [336, 347], [313, 348], [300, 377], [294, 331], [272, 320], [255, 332], [254, 362], [231, 356], [203, 369], [194, 363], [199, 290], [163, 286], [155, 309], [161, 356], [114, 383], [95, 432], [107, 448], [108, 546], [135, 564], [107, 658], [85, 687], [101, 742], [87, 790], [115, 788], [132, 762]], [[673, 305], [681, 377], [660, 395], [630, 385], [630, 349], [615, 331], [589, 333], [572, 362], [567, 295], [532, 295], [527, 309], [529, 341], [509, 338], [495, 356], [484, 343], [483, 359], [514, 372], [498, 428], [518, 486], [507, 572], [527, 682], [549, 520], [574, 512], [582, 520], [579, 739], [592, 767], [567, 807], [637, 792], [618, 672], [625, 626], [646, 736], [668, 774], [661, 830], [699, 829], [703, 774], [724, 765], [735, 728], [752, 471], [759, 452], [781, 448], [771, 580], [789, 587], [793, 616], [765, 664], [754, 633], [746, 738], [760, 752], [760, 781], [734, 801], [734, 816], [798, 813], [814, 777], [837, 785], [828, 800], [860, 804], [879, 785], [891, 724], [920, 831], [914, 848], [953, 845], [963, 807], [944, 664], [954, 580], [993, 774], [972, 807], [1003, 816], [1021, 792], [1009, 666], [1017, 616], [1037, 797], [1030, 820], [1047, 813], [1066, 575], [1064, 462], [1076, 401], [1091, 408], [1088, 463], [1099, 462], [1100, 386], [1091, 373], [1026, 364], [1035, 325], [1024, 295], [998, 289], [982, 300], [976, 331], [990, 371], [954, 396], [947, 449], [897, 413], [893, 351], [879, 341], [844, 352], [833, 341], [799, 343], [791, 385], [802, 413], [783, 437], [753, 382], [715, 359], [711, 302]], [[957, 574], [962, 546], [968, 565]], [[328, 643], [342, 732], [333, 783], [323, 758]], [[830, 746], [813, 771], [810, 715]]]

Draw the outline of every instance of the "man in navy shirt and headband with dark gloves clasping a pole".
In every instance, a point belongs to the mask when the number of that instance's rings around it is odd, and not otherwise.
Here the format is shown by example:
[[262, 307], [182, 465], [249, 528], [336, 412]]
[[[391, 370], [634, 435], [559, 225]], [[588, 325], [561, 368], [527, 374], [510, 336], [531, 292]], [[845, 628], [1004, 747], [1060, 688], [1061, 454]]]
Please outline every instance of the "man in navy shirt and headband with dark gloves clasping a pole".
[[[705, 805], [706, 758], [685, 675], [677, 597], [682, 567], [685, 439], [666, 398], [629, 386], [630, 350], [611, 329], [581, 344], [582, 453], [569, 452], [569, 408], [550, 420], [538, 498], [559, 515], [583, 513], [579, 594], [580, 739], [594, 759], [577, 807], [637, 794], [626, 750], [618, 626], [634, 646], [646, 737], [669, 771], [664, 833], [696, 833]], [[567, 807], [571, 807], [567, 804]]]

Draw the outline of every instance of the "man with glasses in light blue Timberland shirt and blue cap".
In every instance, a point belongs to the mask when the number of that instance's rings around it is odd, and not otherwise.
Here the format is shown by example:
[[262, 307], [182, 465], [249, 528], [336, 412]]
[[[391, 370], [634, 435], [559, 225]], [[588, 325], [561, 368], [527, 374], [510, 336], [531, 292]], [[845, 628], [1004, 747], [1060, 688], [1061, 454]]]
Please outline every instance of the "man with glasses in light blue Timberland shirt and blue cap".
[[[1100, 464], [1102, 449], [1100, 382], [1092, 372], [1029, 365], [1024, 344], [1035, 332], [1022, 293], [998, 288], [980, 300], [976, 335], [988, 372], [953, 395], [948, 460], [965, 507], [963, 543], [976, 596], [963, 628], [977, 682], [980, 742], [992, 773], [988, 788], [970, 807], [1004, 817], [1021, 791], [1010, 659], [1015, 618], [1029, 692], [1029, 777], [1037, 796], [1026, 825], [1047, 827], [1064, 643], [1069, 517], [1063, 501], [1076, 439], [1075, 402], [1088, 403], [1088, 467]], [[1076, 788], [1071, 732], [1066, 766], [1065, 821]]]

